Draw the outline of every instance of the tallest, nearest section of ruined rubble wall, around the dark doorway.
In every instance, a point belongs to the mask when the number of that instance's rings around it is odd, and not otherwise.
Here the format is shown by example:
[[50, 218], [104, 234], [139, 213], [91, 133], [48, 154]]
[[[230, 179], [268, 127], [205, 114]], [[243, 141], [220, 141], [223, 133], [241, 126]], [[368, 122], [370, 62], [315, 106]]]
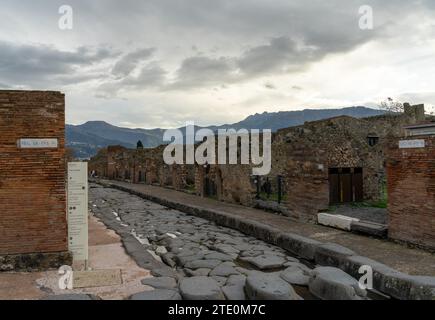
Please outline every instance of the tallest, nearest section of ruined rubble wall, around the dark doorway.
[[[272, 173], [284, 174], [285, 205], [296, 219], [316, 221], [329, 207], [329, 168], [362, 168], [363, 198], [379, 200], [385, 182], [385, 148], [415, 123], [409, 114], [364, 119], [336, 117], [278, 131], [272, 145]], [[378, 143], [368, 144], [376, 136]]]

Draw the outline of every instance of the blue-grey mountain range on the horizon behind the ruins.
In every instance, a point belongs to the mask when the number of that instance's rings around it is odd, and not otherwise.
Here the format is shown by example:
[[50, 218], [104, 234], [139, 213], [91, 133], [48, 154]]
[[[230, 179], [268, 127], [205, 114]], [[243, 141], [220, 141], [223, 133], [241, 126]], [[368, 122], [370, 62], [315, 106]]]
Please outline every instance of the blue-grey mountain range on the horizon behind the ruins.
[[[371, 117], [383, 114], [382, 110], [366, 107], [350, 107], [343, 109], [307, 109], [302, 111], [264, 112], [247, 117], [246, 119], [221, 126], [210, 126], [217, 129], [271, 129], [277, 131], [282, 128], [301, 125], [306, 121], [316, 121], [336, 116], [351, 116], [355, 118]], [[98, 149], [108, 145], [122, 145], [127, 148], [136, 147], [141, 140], [145, 148], [157, 147], [163, 143], [165, 129], [130, 129], [111, 125], [104, 121], [89, 121], [81, 125], [66, 126], [67, 146], [74, 150], [78, 158], [86, 159], [96, 154]]]

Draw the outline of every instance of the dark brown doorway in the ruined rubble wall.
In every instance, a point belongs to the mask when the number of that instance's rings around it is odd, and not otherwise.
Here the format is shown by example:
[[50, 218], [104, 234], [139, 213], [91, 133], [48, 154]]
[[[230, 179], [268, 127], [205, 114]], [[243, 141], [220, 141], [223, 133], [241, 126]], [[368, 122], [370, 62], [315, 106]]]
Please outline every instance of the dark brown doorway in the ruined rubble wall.
[[363, 201], [362, 168], [329, 169], [329, 202], [331, 204]]

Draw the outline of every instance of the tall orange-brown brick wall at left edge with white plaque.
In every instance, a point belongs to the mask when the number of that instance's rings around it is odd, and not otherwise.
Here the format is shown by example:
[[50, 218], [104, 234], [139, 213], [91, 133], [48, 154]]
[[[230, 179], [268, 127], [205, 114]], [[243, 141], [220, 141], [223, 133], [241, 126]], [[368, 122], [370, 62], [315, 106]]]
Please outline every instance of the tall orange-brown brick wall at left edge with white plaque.
[[[0, 255], [67, 251], [65, 97], [0, 91]], [[57, 138], [57, 149], [20, 149]]]

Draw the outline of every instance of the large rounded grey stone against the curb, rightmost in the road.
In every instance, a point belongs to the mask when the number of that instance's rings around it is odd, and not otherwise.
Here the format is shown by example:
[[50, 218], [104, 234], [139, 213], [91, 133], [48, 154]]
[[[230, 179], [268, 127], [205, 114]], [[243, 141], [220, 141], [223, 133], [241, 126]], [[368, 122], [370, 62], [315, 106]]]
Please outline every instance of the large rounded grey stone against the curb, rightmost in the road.
[[359, 287], [356, 279], [333, 267], [318, 267], [309, 281], [312, 294], [323, 300], [362, 300], [367, 291]]

